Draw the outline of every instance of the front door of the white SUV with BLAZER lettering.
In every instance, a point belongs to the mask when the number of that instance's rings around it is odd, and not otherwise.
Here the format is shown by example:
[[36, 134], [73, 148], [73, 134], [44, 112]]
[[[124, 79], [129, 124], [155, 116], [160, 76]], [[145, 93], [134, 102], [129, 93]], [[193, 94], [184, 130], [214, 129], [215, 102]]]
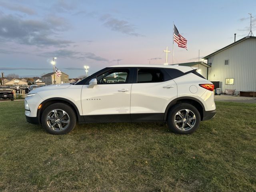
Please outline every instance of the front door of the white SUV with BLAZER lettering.
[[97, 85], [84, 85], [81, 104], [86, 122], [130, 121], [132, 74], [128, 68], [98, 74]]

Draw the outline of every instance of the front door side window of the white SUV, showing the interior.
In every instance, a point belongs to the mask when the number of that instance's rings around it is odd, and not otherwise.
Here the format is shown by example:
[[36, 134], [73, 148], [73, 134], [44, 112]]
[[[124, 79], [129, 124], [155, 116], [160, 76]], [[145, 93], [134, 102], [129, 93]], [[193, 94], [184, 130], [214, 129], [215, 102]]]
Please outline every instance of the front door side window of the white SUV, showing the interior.
[[126, 83], [128, 71], [112, 70], [97, 77], [98, 84]]

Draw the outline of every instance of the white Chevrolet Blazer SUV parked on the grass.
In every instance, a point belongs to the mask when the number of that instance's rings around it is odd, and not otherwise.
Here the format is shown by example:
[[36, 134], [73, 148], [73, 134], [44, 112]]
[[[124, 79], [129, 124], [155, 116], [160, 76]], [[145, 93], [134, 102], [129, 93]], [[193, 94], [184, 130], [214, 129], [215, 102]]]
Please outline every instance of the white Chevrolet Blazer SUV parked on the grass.
[[213, 89], [192, 67], [116, 65], [76, 84], [30, 91], [25, 114], [51, 134], [66, 134], [76, 122], [167, 122], [190, 134], [215, 116]]

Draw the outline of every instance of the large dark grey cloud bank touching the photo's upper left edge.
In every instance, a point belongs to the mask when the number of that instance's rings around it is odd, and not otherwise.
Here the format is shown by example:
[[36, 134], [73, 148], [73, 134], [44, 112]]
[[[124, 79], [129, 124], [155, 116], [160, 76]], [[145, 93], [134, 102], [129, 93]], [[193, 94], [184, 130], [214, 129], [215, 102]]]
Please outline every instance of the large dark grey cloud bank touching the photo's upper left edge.
[[[50, 20], [22, 20], [16, 16], [0, 16], [0, 38], [6, 42], [15, 41], [20, 44], [35, 46], [65, 47], [74, 42], [51, 38], [64, 30], [64, 24], [55, 25], [62, 18]], [[64, 22], [64, 21], [62, 21]]]

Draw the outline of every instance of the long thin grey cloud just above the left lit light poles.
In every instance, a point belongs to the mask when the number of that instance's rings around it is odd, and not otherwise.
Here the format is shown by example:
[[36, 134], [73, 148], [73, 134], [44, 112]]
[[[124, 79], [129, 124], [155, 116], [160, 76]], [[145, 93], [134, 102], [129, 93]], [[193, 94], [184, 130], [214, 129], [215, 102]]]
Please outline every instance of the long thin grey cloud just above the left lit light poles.
[[95, 60], [95, 61], [105, 61], [105, 62], [108, 61], [105, 58], [96, 56], [94, 53], [77, 52], [77, 51], [66, 50], [66, 49], [56, 50], [53, 52], [44, 52], [42, 54], [39, 54], [38, 56], [43, 56], [43, 57], [56, 56], [56, 57], [60, 57], [60, 58], [73, 58], [73, 59], [78, 59], [78, 60], [90, 59], [90, 60]]

